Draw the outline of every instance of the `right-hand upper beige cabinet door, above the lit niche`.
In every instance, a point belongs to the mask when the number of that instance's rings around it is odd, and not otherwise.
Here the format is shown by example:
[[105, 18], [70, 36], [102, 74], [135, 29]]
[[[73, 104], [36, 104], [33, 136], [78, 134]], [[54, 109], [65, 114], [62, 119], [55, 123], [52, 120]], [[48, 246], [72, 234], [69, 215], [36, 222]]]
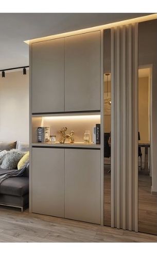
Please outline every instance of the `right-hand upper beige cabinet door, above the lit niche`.
[[64, 39], [64, 110], [100, 109], [100, 31]]

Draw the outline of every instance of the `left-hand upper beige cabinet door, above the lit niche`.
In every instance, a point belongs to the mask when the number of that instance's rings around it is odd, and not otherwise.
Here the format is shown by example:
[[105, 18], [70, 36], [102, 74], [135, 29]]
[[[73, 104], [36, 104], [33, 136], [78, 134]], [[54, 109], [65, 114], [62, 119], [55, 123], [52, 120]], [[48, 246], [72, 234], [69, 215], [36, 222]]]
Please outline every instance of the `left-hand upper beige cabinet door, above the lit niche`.
[[32, 113], [64, 110], [64, 39], [32, 44]]

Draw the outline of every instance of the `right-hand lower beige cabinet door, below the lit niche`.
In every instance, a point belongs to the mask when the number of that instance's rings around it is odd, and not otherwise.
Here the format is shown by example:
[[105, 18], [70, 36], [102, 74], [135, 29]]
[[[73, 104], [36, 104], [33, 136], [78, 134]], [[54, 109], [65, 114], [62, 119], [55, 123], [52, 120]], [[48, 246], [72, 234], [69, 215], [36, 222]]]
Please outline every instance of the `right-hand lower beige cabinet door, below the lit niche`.
[[100, 151], [65, 149], [65, 218], [100, 223]]

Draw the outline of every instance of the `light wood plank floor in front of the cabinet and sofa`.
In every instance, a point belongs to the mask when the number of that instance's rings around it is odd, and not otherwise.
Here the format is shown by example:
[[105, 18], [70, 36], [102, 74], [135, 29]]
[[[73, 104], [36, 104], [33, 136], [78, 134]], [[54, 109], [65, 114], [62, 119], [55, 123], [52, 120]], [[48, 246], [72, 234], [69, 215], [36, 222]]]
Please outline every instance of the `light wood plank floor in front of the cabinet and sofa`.
[[0, 242], [157, 242], [156, 236], [0, 206]]

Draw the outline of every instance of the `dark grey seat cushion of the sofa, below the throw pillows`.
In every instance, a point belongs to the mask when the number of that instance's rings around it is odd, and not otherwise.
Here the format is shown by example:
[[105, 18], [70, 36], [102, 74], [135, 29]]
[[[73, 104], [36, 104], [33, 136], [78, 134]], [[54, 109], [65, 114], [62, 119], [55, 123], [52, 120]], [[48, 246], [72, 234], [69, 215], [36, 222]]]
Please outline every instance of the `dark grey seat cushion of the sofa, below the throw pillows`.
[[13, 177], [3, 181], [0, 185], [0, 194], [24, 196], [29, 193], [29, 178]]

